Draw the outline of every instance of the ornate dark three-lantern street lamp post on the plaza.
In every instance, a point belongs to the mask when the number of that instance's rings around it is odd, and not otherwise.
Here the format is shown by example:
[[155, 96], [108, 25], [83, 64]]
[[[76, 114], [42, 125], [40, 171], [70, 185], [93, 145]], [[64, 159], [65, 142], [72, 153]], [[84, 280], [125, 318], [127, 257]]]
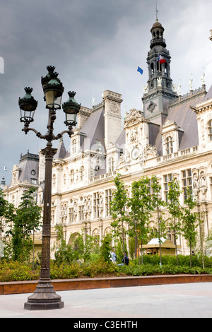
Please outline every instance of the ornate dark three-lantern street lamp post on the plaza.
[[47, 76], [41, 78], [42, 88], [45, 93], [44, 99], [47, 104], [46, 108], [49, 109], [47, 134], [42, 135], [40, 132], [29, 127], [30, 122], [34, 121], [35, 109], [37, 108], [37, 101], [31, 95], [33, 89], [25, 88], [25, 96], [19, 98], [18, 101], [20, 107], [20, 122], [24, 122], [24, 128], [22, 130], [25, 134], [28, 134], [28, 131], [34, 131], [36, 136], [47, 140], [46, 148], [42, 149], [42, 154], [45, 155], [45, 193], [40, 280], [35, 292], [28, 297], [28, 302], [24, 304], [24, 309], [28, 310], [61, 309], [64, 307], [64, 302], [61, 301], [61, 297], [54, 291], [50, 280], [52, 160], [57, 153], [57, 149], [52, 148], [52, 141], [61, 138], [65, 133], [69, 134], [71, 137], [73, 134], [73, 126], [76, 126], [76, 116], [81, 105], [74, 100], [73, 97], [75, 93], [70, 92], [69, 100], [62, 105], [66, 113], [66, 121], [64, 121], [64, 124], [69, 128], [66, 131], [62, 131], [61, 134], [54, 136], [53, 124], [56, 119], [56, 110], [61, 109], [61, 97], [64, 92], [64, 87], [59, 78], [57, 78], [58, 73], [55, 73], [54, 69], [54, 66], [47, 66]]

